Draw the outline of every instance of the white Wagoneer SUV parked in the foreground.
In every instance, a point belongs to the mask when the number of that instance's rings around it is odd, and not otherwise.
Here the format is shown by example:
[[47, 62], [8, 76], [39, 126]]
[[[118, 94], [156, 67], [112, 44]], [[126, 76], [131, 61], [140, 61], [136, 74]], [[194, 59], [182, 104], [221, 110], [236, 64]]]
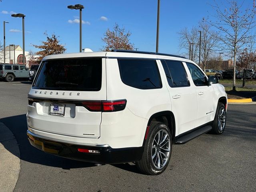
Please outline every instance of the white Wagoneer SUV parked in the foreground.
[[162, 173], [172, 144], [222, 134], [216, 76], [175, 55], [114, 50], [46, 56], [28, 94], [28, 139], [58, 156]]

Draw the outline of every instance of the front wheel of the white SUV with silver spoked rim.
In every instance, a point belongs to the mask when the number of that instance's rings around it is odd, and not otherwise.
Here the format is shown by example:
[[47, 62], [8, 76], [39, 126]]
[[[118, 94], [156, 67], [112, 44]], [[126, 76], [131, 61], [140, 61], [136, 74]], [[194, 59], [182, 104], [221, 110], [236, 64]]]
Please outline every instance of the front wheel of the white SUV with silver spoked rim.
[[223, 103], [218, 103], [214, 121], [212, 124], [212, 134], [220, 135], [226, 127], [226, 108]]

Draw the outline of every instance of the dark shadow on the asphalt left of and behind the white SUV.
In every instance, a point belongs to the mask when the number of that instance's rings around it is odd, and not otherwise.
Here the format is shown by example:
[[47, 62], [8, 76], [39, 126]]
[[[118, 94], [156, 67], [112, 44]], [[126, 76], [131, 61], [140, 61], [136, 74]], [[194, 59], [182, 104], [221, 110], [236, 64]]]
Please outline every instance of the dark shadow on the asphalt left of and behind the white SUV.
[[80, 162], [47, 154], [31, 146], [26, 134], [26, 114], [2, 118], [0, 121], [4, 123], [14, 134], [20, 150], [20, 156], [12, 150], [11, 146], [4, 145], [5, 142], [2, 142], [2, 144], [6, 150], [20, 158], [20, 160], [46, 166], [59, 167], [65, 170], [95, 166], [94, 163]]

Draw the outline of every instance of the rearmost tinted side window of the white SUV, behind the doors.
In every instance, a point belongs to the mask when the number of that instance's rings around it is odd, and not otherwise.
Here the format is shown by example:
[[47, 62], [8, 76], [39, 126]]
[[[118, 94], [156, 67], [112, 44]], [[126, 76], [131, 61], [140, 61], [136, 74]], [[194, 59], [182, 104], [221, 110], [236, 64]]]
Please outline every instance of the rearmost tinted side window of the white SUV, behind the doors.
[[122, 82], [138, 89], [162, 88], [156, 60], [118, 59]]

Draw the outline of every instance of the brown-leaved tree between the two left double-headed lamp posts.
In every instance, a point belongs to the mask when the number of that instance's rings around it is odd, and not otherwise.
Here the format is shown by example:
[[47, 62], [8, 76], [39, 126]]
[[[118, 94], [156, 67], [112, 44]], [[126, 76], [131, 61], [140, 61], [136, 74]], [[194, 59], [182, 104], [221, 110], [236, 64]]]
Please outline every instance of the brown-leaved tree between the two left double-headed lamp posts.
[[66, 51], [64, 45], [61, 45], [60, 40], [58, 40], [59, 36], [56, 36], [56, 34], [48, 36], [47, 32], [44, 32], [44, 35], [46, 35], [46, 41], [43, 41], [42, 45], [33, 45], [34, 47], [41, 49], [41, 51], [36, 52], [37, 55], [40, 55], [40, 57], [38, 57], [39, 61], [42, 60], [44, 56], [61, 54]]

